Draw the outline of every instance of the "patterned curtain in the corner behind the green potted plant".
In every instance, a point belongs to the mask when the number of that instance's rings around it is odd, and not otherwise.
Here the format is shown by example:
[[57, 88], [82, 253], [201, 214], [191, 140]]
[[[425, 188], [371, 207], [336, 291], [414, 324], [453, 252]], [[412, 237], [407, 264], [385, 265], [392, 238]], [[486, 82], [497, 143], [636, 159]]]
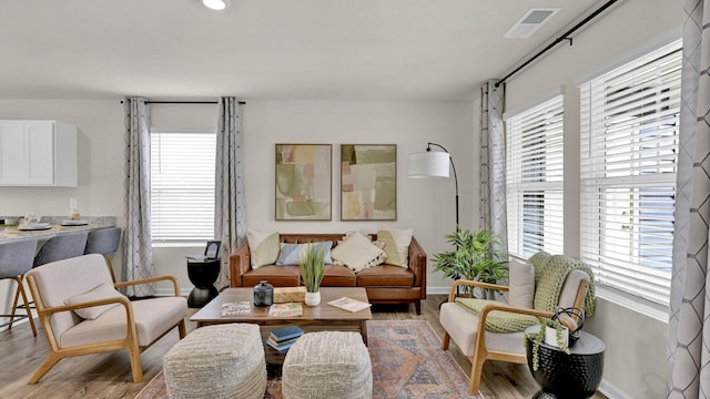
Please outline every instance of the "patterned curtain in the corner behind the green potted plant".
[[480, 223], [498, 237], [495, 249], [508, 253], [506, 214], [506, 134], [503, 123], [505, 84], [480, 88]]

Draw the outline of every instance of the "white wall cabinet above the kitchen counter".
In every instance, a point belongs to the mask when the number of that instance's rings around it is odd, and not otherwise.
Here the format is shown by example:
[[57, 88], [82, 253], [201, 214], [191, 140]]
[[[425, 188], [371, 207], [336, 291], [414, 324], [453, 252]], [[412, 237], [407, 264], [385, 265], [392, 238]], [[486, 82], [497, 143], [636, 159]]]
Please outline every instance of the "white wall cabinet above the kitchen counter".
[[0, 121], [0, 186], [78, 183], [77, 126], [60, 121]]

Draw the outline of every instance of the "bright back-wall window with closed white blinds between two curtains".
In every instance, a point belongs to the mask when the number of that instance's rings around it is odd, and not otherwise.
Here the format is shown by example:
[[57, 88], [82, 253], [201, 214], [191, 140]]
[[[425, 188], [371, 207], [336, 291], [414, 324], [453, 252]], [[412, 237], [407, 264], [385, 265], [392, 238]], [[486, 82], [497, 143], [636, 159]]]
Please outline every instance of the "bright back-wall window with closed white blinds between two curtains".
[[154, 243], [213, 239], [215, 147], [214, 132], [151, 132]]

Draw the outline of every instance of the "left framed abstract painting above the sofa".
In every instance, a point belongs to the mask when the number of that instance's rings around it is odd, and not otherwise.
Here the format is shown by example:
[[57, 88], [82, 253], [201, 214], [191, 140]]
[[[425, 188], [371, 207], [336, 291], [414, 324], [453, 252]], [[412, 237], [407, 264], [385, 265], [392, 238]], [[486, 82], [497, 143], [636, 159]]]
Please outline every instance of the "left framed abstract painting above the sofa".
[[331, 144], [276, 144], [276, 221], [332, 218]]

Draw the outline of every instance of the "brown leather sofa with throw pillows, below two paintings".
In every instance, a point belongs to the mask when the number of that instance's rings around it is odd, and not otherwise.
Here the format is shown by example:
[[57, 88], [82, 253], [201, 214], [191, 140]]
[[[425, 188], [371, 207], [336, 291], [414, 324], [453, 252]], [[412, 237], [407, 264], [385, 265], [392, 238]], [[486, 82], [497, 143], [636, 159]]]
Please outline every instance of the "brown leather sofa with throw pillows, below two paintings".
[[[333, 247], [343, 234], [280, 234], [282, 243], [304, 244], [333, 242]], [[373, 235], [377, 239], [377, 235]], [[274, 287], [301, 285], [298, 266], [266, 265], [252, 269], [246, 241], [230, 257], [232, 287], [253, 287], [267, 280]], [[371, 304], [414, 304], [417, 315], [422, 314], [422, 299], [426, 299], [426, 253], [412, 237], [409, 244], [409, 267], [404, 268], [382, 264], [355, 273], [339, 265], [325, 265], [322, 287], [364, 287]]]

